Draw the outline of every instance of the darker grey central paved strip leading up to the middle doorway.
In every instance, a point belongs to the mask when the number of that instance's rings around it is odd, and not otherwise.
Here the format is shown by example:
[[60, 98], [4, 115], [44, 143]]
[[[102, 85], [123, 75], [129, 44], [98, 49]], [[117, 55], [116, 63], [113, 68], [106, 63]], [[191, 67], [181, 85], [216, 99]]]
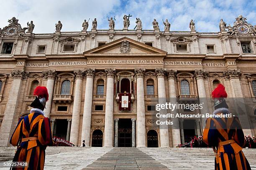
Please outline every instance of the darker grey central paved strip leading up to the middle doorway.
[[83, 170], [168, 170], [138, 148], [113, 148]]

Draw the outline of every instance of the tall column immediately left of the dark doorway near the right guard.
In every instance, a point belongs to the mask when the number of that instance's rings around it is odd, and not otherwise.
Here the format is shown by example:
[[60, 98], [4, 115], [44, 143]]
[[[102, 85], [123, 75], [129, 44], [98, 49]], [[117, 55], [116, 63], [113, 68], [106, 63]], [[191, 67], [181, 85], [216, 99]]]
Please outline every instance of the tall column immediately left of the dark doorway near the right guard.
[[[177, 103], [176, 87], [175, 87], [175, 76], [177, 70], [167, 70], [168, 75], [168, 90], [169, 90], [169, 102]], [[176, 115], [178, 112], [175, 109], [173, 114]], [[180, 130], [179, 130], [179, 118], [172, 118], [172, 147], [176, 147], [181, 143], [180, 140]]]

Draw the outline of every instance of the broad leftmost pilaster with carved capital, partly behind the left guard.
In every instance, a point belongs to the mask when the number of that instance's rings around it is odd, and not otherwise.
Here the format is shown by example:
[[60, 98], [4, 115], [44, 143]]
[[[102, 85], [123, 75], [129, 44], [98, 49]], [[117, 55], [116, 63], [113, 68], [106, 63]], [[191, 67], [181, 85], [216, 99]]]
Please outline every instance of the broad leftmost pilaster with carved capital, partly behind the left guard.
[[10, 137], [18, 123], [17, 108], [20, 101], [22, 79], [25, 79], [28, 75], [29, 72], [25, 72], [24, 70], [13, 70], [11, 72], [13, 82], [10, 88], [8, 102], [5, 105], [3, 122], [0, 127], [0, 146], [10, 145]]

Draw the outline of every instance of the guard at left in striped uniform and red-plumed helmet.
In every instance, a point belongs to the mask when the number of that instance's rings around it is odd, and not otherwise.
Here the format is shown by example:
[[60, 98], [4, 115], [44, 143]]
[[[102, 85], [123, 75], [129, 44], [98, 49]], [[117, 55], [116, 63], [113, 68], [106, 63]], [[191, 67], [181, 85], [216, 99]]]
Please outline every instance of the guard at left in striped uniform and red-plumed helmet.
[[[12, 167], [13, 170], [43, 170], [46, 146], [53, 145], [51, 124], [48, 117], [44, 117], [44, 108], [48, 100], [46, 87], [36, 87], [36, 99], [31, 103], [30, 114], [21, 117], [10, 138], [10, 144], [18, 146], [13, 162], [23, 161], [26, 167]], [[25, 165], [25, 164], [24, 164]]]

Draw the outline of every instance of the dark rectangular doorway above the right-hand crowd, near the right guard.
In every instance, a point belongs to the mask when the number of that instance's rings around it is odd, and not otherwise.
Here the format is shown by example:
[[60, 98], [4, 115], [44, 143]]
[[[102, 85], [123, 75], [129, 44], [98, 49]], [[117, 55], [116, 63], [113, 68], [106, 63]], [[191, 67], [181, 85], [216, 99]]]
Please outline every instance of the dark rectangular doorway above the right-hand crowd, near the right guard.
[[183, 132], [184, 141], [190, 142], [195, 136], [195, 120], [194, 119], [184, 119], [183, 121]]

